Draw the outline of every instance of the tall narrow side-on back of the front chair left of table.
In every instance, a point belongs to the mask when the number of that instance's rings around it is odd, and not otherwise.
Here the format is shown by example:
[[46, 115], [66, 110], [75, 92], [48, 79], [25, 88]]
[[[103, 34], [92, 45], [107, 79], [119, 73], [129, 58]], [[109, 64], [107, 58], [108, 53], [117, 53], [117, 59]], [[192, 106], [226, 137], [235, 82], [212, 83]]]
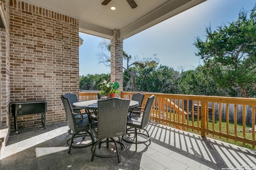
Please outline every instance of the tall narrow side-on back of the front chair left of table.
[[66, 117], [67, 117], [67, 122], [68, 122], [68, 127], [72, 130], [75, 131], [75, 126], [74, 126], [74, 122], [75, 122], [75, 117], [72, 113], [73, 109], [72, 106], [70, 104], [70, 101], [67, 97], [65, 97], [65, 94], [62, 94], [60, 96], [62, 103], [64, 105], [65, 111], [66, 111]]

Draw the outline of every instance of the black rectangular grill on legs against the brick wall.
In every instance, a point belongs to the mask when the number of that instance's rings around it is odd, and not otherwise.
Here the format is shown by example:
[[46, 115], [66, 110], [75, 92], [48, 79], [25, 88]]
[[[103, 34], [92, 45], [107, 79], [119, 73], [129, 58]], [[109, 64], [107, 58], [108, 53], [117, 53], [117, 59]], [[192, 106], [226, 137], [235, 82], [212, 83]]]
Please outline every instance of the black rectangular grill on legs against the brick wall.
[[17, 116], [30, 115], [36, 113], [42, 113], [42, 126], [45, 129], [45, 113], [47, 112], [46, 100], [32, 100], [32, 101], [16, 101], [12, 104], [12, 116], [14, 116], [14, 128], [18, 134], [18, 120]]

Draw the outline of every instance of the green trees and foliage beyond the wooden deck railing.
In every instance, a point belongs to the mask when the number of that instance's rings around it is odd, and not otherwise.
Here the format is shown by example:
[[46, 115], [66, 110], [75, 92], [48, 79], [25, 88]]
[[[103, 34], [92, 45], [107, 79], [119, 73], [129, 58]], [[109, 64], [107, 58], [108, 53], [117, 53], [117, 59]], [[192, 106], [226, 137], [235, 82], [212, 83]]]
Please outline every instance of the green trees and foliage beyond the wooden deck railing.
[[[206, 27], [206, 40], [197, 37], [194, 45], [203, 66], [178, 72], [158, 65], [158, 59], [132, 57], [123, 51], [124, 91], [160, 92], [204, 96], [256, 97], [256, 7], [241, 10], [238, 20], [212, 31]], [[110, 66], [110, 41], [102, 40], [100, 63]], [[170, 56], [168, 56], [170, 57]], [[96, 84], [110, 80], [110, 74], [80, 76], [80, 90], [101, 90]], [[113, 89], [113, 88], [112, 88]]]

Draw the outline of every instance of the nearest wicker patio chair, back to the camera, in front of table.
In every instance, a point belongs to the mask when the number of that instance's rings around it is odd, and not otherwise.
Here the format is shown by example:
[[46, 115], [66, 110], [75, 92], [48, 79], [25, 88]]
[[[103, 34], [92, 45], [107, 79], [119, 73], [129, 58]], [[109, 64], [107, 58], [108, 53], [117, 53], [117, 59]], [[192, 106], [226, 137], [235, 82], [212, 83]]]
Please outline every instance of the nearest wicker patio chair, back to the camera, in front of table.
[[[110, 98], [98, 101], [97, 125], [92, 125], [92, 131], [94, 132], [97, 141], [92, 147], [91, 161], [93, 161], [94, 156], [102, 158], [117, 156], [118, 162], [120, 162], [120, 153], [125, 149], [125, 145], [122, 143], [120, 136], [126, 134], [126, 119], [129, 104], [130, 99], [121, 98]], [[116, 141], [116, 139], [118, 140]], [[96, 152], [97, 145], [99, 145], [100, 149], [102, 143], [106, 143], [107, 148], [109, 147], [109, 143], [114, 143], [116, 148], [115, 152], [110, 152], [108, 154], [100, 154]], [[117, 143], [120, 144], [121, 150], [118, 150]], [[111, 149], [108, 151], [111, 151]]]

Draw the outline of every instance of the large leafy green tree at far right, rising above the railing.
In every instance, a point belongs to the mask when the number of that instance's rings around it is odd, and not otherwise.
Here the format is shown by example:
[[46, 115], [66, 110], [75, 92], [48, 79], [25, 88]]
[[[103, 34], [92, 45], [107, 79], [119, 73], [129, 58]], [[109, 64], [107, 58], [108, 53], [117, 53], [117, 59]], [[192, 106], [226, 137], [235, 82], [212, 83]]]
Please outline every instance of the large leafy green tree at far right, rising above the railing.
[[[196, 38], [197, 56], [204, 60], [205, 71], [222, 89], [236, 91], [237, 97], [248, 98], [256, 80], [256, 6], [242, 9], [238, 20], [222, 24], [212, 31], [206, 27], [206, 40]], [[254, 87], [254, 88], [252, 88]], [[230, 95], [234, 95], [230, 93]]]

